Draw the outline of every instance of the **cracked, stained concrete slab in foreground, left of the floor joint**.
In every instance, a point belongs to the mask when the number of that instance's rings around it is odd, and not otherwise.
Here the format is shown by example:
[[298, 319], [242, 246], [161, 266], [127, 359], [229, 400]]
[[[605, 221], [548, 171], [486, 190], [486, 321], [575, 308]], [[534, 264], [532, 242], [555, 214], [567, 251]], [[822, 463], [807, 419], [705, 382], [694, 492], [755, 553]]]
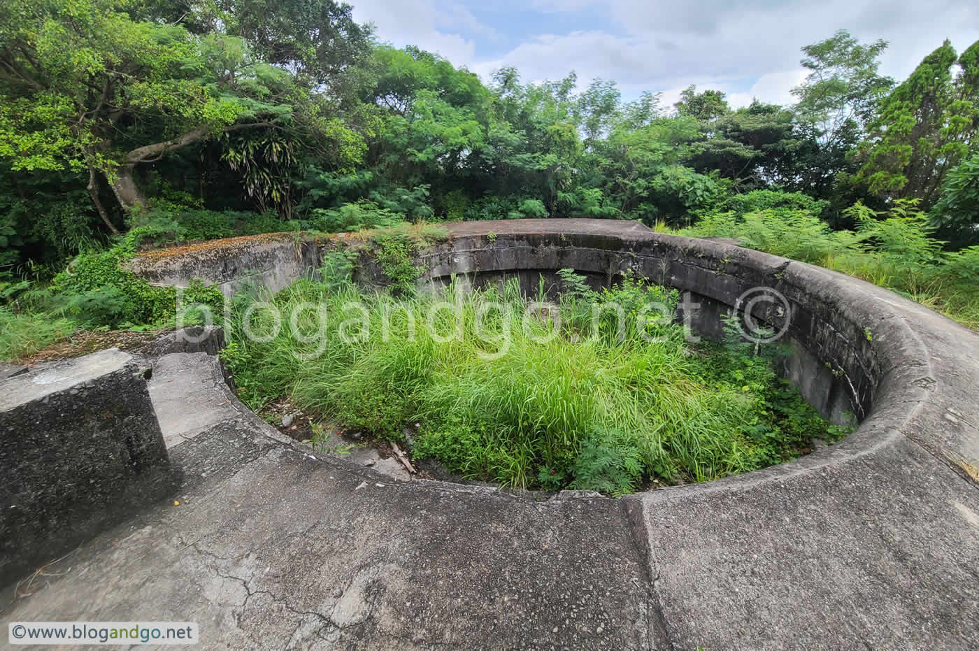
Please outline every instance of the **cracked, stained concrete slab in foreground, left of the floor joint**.
[[204, 648], [658, 647], [619, 500], [392, 482], [244, 409], [170, 455], [179, 505], [86, 544], [4, 618], [196, 621]]

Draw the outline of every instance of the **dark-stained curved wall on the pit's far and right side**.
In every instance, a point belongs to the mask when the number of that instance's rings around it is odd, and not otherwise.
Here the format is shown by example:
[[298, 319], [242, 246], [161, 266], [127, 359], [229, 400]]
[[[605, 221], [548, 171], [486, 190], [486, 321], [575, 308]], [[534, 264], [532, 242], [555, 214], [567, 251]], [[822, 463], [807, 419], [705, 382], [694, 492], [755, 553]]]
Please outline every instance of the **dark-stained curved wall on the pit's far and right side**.
[[[652, 233], [635, 222], [570, 219], [560, 220], [556, 229], [556, 221], [452, 225], [453, 237], [422, 256], [429, 269], [422, 282], [442, 286], [464, 277], [479, 286], [510, 275], [533, 293], [541, 273], [550, 286], [555, 269], [573, 268], [595, 285], [608, 285], [631, 270], [687, 293], [697, 308], [684, 315], [680, 305], [677, 318], [688, 319], [695, 332], [712, 340], [722, 337], [721, 317], [738, 297], [770, 287], [790, 303], [788, 331], [779, 340], [794, 352], [785, 362], [786, 378], [834, 422], [847, 420], [849, 413], [861, 420], [869, 411], [880, 374], [864, 328], [874, 319], [840, 309], [843, 294], [826, 296], [811, 286], [805, 273], [797, 273], [809, 265], [793, 262], [789, 269], [785, 258]], [[783, 320], [769, 313], [756, 316], [776, 326]]]

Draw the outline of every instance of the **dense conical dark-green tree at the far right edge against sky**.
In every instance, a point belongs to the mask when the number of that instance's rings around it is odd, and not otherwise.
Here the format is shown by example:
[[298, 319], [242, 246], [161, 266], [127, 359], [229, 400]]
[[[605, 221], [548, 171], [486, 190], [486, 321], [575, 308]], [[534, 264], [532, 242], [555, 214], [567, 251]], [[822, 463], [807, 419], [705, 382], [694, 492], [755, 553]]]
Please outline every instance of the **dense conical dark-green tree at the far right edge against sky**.
[[946, 40], [881, 103], [867, 127], [858, 179], [875, 194], [933, 204], [979, 127], [977, 84], [979, 42], [956, 57]]

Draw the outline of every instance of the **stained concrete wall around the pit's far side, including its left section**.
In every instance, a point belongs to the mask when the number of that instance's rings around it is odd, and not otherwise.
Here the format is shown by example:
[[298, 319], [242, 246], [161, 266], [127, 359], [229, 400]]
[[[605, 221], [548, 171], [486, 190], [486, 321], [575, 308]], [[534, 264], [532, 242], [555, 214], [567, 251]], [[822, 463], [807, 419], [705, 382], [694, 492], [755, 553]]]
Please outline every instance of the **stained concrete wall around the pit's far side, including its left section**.
[[[890, 368], [881, 354], [886, 357], [897, 354], [895, 350], [901, 347], [913, 348], [905, 341], [913, 339], [909, 328], [892, 323], [893, 312], [886, 303], [893, 294], [842, 274], [727, 242], [653, 233], [634, 221], [607, 219], [519, 219], [446, 226], [449, 239], [418, 256], [426, 269], [419, 279], [423, 287], [444, 286], [453, 276], [463, 276], [477, 286], [515, 277], [525, 292], [535, 295], [540, 275], [549, 288], [556, 286], [557, 269], [576, 269], [595, 286], [607, 285], [631, 270], [700, 302], [690, 322], [703, 336], [712, 338], [720, 336], [721, 316], [745, 291], [755, 287], [778, 291], [789, 303], [787, 313], [776, 314], [760, 306], [754, 316], [774, 327], [787, 326], [782, 341], [797, 354], [786, 363], [786, 377], [823, 416], [837, 422], [844, 412], [853, 412], [858, 419], [869, 413]], [[325, 247], [343, 243], [310, 241], [297, 247], [292, 235], [268, 237], [267, 242], [235, 238], [207, 243], [203, 252], [177, 250], [140, 256], [133, 269], [160, 284], [186, 285], [199, 277], [231, 292], [254, 279], [276, 291], [316, 269]], [[253, 271], [251, 276], [249, 271]], [[380, 267], [365, 255], [355, 279], [384, 284]], [[884, 298], [868, 302], [868, 291]], [[881, 323], [888, 323], [886, 331], [898, 342], [898, 349], [887, 338], [878, 338]]]

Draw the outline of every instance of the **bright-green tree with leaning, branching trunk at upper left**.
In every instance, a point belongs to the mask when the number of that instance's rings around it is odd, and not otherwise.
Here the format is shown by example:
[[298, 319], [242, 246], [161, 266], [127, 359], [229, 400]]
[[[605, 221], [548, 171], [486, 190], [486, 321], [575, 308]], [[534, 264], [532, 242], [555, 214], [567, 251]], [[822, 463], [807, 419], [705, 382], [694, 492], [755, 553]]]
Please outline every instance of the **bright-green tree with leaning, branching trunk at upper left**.
[[221, 134], [280, 129], [343, 140], [294, 73], [240, 38], [136, 22], [114, 0], [13, 0], [0, 13], [0, 157], [14, 170], [86, 170], [122, 209], [145, 203], [136, 168]]

